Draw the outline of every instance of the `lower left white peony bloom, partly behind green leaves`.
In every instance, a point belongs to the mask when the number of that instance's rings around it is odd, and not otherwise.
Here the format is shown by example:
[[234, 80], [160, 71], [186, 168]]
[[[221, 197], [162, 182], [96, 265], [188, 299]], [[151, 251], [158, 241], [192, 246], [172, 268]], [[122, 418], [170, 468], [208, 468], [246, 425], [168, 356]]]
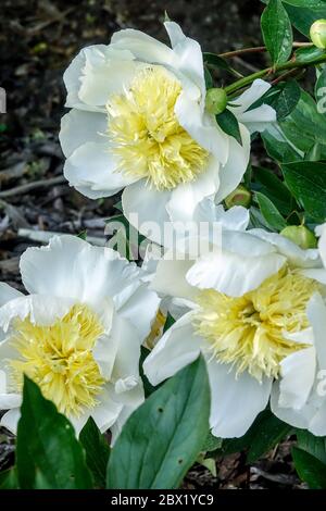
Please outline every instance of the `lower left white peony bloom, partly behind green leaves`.
[[138, 364], [159, 300], [135, 264], [74, 236], [21, 258], [29, 295], [0, 286], [1, 425], [15, 432], [23, 374], [78, 433], [89, 416], [116, 436], [143, 400]]

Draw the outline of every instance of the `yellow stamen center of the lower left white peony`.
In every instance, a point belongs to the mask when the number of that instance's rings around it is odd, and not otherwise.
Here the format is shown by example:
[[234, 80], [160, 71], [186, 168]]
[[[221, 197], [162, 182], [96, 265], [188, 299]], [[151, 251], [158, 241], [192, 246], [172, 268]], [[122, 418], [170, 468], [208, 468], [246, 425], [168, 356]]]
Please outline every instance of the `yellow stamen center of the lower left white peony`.
[[21, 390], [26, 374], [65, 415], [78, 416], [97, 403], [104, 379], [91, 350], [103, 327], [88, 307], [74, 306], [50, 326], [16, 319], [14, 329], [17, 359], [9, 361], [13, 390]]

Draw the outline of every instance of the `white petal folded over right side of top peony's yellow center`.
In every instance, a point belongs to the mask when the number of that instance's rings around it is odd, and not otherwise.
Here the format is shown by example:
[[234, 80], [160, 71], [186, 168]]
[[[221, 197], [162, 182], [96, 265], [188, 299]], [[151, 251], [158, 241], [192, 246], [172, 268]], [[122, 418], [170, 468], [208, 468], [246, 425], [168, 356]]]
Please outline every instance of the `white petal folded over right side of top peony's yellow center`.
[[215, 119], [202, 111], [198, 101], [183, 91], [175, 104], [175, 113], [180, 125], [191, 137], [222, 163], [229, 155], [229, 137], [220, 128]]

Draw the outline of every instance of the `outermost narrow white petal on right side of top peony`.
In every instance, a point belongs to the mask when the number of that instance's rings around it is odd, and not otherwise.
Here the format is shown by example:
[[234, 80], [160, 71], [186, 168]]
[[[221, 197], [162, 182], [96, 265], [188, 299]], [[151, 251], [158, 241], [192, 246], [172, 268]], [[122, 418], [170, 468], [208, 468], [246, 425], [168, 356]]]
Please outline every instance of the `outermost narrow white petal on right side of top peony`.
[[215, 197], [215, 202], [222, 202], [241, 183], [250, 159], [250, 134], [240, 124], [242, 146], [234, 138], [229, 137], [229, 153], [225, 165], [220, 171], [220, 188]]

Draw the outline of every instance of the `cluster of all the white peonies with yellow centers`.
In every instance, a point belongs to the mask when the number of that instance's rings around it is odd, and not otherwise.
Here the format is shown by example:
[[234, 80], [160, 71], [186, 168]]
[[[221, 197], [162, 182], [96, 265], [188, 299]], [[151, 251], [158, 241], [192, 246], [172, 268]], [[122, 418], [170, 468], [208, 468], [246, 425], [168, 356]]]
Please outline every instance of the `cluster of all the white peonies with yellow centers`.
[[[28, 295], [0, 286], [1, 424], [16, 431], [26, 374], [76, 432], [92, 416], [114, 439], [145, 399], [140, 348], [168, 308], [177, 321], [154, 340], [145, 373], [156, 385], [202, 353], [214, 435], [242, 436], [268, 402], [326, 435], [326, 227], [318, 249], [303, 250], [250, 228], [244, 208], [218, 205], [243, 177], [251, 133], [276, 122], [271, 107], [254, 107], [269, 85], [233, 99], [239, 144], [206, 111], [200, 46], [165, 27], [172, 48], [125, 29], [80, 51], [64, 75], [72, 110], [60, 140], [72, 186], [92, 199], [123, 190], [126, 219], [171, 223], [184, 257], [166, 247], [140, 269], [73, 236], [27, 249]], [[187, 247], [199, 235], [177, 227], [189, 221], [222, 226], [196, 259]]]

